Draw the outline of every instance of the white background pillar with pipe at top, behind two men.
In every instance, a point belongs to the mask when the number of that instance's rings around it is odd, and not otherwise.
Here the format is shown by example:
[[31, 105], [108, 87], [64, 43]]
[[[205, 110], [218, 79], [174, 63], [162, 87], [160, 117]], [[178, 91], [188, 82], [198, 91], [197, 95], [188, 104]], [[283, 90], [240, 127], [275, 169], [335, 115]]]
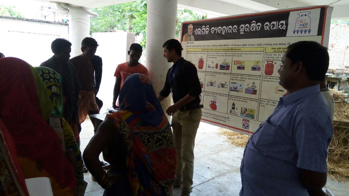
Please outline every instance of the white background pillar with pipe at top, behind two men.
[[81, 41], [90, 37], [90, 15], [69, 9], [69, 42], [72, 43], [71, 57], [81, 54]]

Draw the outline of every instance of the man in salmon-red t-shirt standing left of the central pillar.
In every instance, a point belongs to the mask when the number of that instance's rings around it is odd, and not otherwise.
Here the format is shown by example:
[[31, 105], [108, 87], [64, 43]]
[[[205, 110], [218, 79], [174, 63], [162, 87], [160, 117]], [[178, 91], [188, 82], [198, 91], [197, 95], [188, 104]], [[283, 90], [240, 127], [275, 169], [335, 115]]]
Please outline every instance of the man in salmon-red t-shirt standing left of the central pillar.
[[119, 103], [116, 104], [118, 99], [120, 89], [126, 78], [132, 74], [144, 74], [149, 77], [148, 69], [139, 63], [143, 49], [142, 46], [136, 43], [131, 44], [130, 50], [128, 51], [129, 61], [121, 63], [115, 70], [114, 76], [116, 77], [113, 93], [113, 107], [119, 106]]

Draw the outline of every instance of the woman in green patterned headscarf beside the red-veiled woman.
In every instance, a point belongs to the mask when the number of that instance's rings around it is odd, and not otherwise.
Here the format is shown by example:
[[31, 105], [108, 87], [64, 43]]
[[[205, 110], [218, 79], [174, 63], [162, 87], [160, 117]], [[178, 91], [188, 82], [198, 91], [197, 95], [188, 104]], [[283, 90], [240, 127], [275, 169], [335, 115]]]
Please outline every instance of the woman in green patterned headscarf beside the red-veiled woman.
[[[36, 71], [38, 72], [39, 76], [42, 78], [40, 82], [43, 82], [46, 86], [46, 93], [50, 96], [50, 103], [45, 103], [44, 107], [42, 108], [42, 113], [49, 113], [50, 116], [59, 117], [62, 118], [62, 125], [63, 125], [63, 134], [64, 134], [64, 143], [66, 149], [72, 149], [75, 153], [75, 159], [77, 162], [77, 172], [76, 172], [76, 178], [77, 178], [77, 195], [83, 195], [83, 172], [82, 172], [82, 157], [81, 157], [81, 151], [79, 146], [77, 145], [77, 142], [75, 140], [73, 130], [67, 123], [67, 121], [62, 116], [62, 110], [63, 110], [63, 96], [62, 96], [62, 78], [60, 74], [58, 74], [53, 69], [47, 68], [47, 67], [35, 67]], [[36, 80], [38, 82], [38, 80]], [[40, 95], [41, 94], [41, 95]], [[39, 93], [40, 100], [42, 96], [47, 96], [44, 92]], [[48, 120], [48, 116], [43, 116], [45, 120]]]

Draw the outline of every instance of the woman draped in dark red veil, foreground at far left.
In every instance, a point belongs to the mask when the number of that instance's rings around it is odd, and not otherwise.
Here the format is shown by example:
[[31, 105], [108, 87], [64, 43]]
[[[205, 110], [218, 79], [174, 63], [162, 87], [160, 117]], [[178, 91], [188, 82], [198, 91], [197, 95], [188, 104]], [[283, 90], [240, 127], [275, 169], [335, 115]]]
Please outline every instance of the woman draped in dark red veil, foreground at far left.
[[[0, 118], [13, 137], [23, 177], [48, 177], [54, 196], [75, 195], [72, 164], [62, 151], [58, 134], [43, 120], [49, 116], [49, 99], [36, 70], [17, 58], [0, 59]], [[48, 95], [47, 95], [48, 96]], [[51, 107], [52, 109], [52, 107]]]

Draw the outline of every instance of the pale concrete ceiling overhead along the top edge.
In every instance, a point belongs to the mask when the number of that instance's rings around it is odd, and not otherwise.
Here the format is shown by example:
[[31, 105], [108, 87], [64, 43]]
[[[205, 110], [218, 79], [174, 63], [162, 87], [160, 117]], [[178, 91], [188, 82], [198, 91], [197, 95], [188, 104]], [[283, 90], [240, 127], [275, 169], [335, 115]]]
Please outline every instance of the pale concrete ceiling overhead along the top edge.
[[[56, 2], [52, 0], [38, 1]], [[131, 1], [133, 0], [61, 0], [60, 2], [95, 8]], [[337, 0], [178, 0], [178, 7], [224, 16], [294, 7], [329, 5], [335, 1]], [[334, 7], [332, 18], [349, 18], [349, 0], [340, 0], [331, 6]]]

